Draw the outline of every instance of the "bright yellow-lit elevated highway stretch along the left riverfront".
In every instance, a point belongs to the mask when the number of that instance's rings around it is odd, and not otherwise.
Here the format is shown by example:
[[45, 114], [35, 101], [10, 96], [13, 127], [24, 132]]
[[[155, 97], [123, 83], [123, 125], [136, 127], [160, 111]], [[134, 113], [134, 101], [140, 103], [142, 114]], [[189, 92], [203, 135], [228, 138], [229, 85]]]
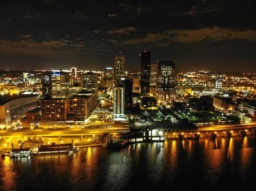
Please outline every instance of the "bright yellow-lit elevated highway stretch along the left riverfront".
[[104, 133], [127, 133], [130, 127], [85, 127], [76, 129], [33, 129], [33, 130], [0, 130], [0, 137], [20, 136], [74, 136]]

